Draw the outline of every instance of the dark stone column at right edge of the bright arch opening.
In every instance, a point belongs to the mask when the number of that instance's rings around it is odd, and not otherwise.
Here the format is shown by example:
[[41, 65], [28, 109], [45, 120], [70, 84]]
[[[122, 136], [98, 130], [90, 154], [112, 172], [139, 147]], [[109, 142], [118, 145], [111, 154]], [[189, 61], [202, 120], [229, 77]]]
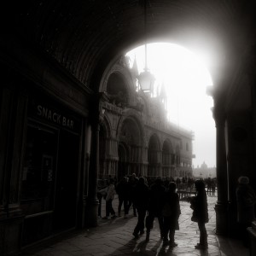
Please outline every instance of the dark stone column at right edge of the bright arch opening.
[[218, 187], [218, 201], [215, 205], [216, 234], [228, 233], [228, 173], [225, 148], [225, 114], [224, 108], [214, 108], [213, 115], [216, 124], [216, 176]]

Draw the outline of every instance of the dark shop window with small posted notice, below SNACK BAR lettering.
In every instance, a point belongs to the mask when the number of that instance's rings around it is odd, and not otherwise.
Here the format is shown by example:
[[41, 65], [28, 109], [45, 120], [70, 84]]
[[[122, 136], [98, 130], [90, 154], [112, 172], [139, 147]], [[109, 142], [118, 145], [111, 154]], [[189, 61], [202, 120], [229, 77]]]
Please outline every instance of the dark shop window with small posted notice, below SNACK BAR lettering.
[[20, 198], [26, 215], [53, 209], [56, 144], [56, 132], [28, 126]]

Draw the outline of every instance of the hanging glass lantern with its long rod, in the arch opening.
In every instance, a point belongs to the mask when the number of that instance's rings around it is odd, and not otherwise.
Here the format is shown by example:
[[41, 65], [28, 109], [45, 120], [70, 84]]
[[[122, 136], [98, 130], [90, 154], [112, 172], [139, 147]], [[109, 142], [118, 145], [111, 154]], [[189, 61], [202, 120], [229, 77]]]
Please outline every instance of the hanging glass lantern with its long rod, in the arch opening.
[[147, 53], [147, 5], [148, 0], [144, 0], [144, 27], [145, 27], [145, 67], [144, 71], [137, 77], [141, 89], [144, 92], [151, 92], [154, 90], [154, 75], [148, 69], [148, 53]]

